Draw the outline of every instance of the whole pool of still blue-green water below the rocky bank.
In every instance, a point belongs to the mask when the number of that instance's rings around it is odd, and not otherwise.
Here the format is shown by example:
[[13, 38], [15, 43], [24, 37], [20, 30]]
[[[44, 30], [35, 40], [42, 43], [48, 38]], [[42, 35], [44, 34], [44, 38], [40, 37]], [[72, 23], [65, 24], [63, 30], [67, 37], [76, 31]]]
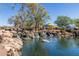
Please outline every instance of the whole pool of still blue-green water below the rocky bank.
[[35, 41], [27, 40], [22, 49], [23, 56], [79, 56], [79, 38], [47, 37]]

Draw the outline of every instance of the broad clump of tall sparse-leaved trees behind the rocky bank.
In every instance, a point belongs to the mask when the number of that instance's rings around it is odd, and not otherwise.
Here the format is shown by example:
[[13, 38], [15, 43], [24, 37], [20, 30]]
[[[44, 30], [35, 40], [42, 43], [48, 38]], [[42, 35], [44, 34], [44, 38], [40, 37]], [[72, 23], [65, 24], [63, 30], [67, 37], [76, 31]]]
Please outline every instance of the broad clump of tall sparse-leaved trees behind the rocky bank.
[[[11, 17], [9, 22], [14, 25], [19, 24], [19, 28], [33, 27], [35, 30], [43, 26], [45, 21], [49, 19], [49, 15], [45, 8], [35, 3], [19, 4], [21, 7], [18, 11], [18, 20], [16, 15]], [[13, 20], [14, 19], [14, 20]], [[17, 22], [16, 22], [17, 21]]]

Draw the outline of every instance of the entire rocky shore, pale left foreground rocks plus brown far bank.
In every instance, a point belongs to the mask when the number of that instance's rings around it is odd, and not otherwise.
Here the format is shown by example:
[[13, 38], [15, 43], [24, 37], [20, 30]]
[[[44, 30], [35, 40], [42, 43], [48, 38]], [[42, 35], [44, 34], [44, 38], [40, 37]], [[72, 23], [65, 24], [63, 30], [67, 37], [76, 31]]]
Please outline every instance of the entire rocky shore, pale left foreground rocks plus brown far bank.
[[67, 32], [62, 30], [32, 30], [19, 31], [0, 29], [0, 56], [20, 56], [24, 41], [28, 39], [47, 38], [48, 36], [71, 37], [79, 31]]

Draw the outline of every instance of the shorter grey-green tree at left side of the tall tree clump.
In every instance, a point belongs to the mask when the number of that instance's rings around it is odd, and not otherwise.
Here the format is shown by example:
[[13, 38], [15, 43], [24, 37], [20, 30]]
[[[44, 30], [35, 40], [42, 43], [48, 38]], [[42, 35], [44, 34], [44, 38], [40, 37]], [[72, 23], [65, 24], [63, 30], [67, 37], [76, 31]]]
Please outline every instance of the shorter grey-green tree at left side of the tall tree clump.
[[14, 27], [18, 30], [18, 29], [24, 29], [24, 26], [25, 26], [25, 24], [24, 24], [24, 22], [26, 21], [26, 13], [23, 13], [23, 15], [22, 15], [22, 13], [21, 13], [21, 15], [20, 15], [20, 13], [21, 12], [19, 12], [17, 15], [15, 15], [15, 16], [12, 16], [11, 18], [9, 18], [9, 23], [10, 24], [13, 24], [14, 25]]

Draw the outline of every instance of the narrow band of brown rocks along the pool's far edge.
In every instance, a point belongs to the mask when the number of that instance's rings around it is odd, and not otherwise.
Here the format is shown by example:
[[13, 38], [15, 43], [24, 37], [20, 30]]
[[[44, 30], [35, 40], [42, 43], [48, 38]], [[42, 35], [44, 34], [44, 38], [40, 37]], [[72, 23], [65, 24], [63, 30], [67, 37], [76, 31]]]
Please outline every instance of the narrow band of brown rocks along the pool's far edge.
[[59, 37], [70, 37], [70, 36], [79, 36], [79, 30], [76, 30], [74, 32], [68, 32], [65, 30], [40, 30], [38, 32], [35, 31], [25, 31], [25, 34], [23, 34], [23, 37], [30, 37], [35, 38], [36, 33], [39, 37], [48, 37], [48, 36], [59, 36]]

